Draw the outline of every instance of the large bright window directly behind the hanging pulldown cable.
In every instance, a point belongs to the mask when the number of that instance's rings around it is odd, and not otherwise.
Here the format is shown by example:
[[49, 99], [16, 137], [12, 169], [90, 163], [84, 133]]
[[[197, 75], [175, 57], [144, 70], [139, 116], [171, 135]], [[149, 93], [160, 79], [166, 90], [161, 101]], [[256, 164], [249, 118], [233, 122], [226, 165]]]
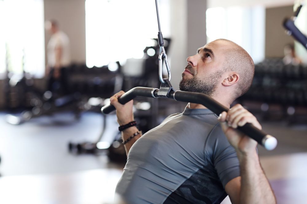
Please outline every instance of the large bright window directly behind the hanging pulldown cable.
[[[159, 14], [164, 37], [170, 34], [168, 0], [160, 0]], [[157, 38], [153, 0], [86, 0], [86, 64], [107, 65], [128, 58], [142, 58], [146, 46]]]

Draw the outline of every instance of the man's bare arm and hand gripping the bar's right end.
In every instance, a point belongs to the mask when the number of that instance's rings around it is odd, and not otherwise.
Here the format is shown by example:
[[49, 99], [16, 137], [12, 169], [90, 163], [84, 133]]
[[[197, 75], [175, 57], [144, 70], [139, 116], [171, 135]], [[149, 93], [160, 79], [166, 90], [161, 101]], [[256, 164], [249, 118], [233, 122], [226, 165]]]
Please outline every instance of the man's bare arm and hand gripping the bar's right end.
[[[225, 121], [228, 121], [226, 123]], [[241, 176], [229, 181], [225, 190], [233, 203], [276, 203], [269, 181], [259, 162], [257, 142], [235, 130], [238, 126], [251, 123], [261, 129], [261, 125], [250, 112], [237, 104], [228, 113], [223, 112], [219, 121], [229, 141], [235, 148]]]

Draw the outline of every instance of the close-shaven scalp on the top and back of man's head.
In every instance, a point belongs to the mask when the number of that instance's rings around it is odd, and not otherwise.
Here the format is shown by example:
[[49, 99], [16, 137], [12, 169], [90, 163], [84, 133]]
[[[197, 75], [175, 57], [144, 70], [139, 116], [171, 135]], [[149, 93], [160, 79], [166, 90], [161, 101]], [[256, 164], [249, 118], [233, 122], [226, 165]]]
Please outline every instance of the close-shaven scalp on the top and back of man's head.
[[[255, 65], [251, 56], [238, 44], [227, 40], [217, 39], [215, 41], [225, 43], [227, 49], [225, 49], [225, 61], [223, 68], [225, 71], [233, 71], [239, 74], [239, 81], [236, 84], [236, 92], [233, 100], [239, 98], [245, 94], [251, 87], [251, 83], [254, 78]], [[213, 42], [215, 42], [213, 41]]]

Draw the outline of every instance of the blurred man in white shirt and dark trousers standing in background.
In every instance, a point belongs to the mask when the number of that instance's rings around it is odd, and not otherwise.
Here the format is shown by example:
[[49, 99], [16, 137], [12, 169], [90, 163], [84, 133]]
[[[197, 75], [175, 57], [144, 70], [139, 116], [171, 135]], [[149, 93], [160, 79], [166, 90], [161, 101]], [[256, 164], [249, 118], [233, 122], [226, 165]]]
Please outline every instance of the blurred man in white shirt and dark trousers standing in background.
[[68, 76], [66, 67], [71, 63], [68, 36], [60, 31], [58, 23], [51, 20], [47, 23], [51, 37], [47, 45], [48, 65], [46, 72], [49, 74], [48, 91], [68, 93]]

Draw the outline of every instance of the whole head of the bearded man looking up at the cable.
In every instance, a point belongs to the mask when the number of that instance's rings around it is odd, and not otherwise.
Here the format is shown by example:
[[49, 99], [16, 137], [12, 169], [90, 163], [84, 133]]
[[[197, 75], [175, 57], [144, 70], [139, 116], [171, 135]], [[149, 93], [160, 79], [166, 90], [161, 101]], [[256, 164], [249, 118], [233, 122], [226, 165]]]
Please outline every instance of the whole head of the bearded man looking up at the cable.
[[187, 62], [179, 89], [204, 93], [229, 105], [248, 91], [254, 78], [251, 56], [226, 39], [200, 47]]

